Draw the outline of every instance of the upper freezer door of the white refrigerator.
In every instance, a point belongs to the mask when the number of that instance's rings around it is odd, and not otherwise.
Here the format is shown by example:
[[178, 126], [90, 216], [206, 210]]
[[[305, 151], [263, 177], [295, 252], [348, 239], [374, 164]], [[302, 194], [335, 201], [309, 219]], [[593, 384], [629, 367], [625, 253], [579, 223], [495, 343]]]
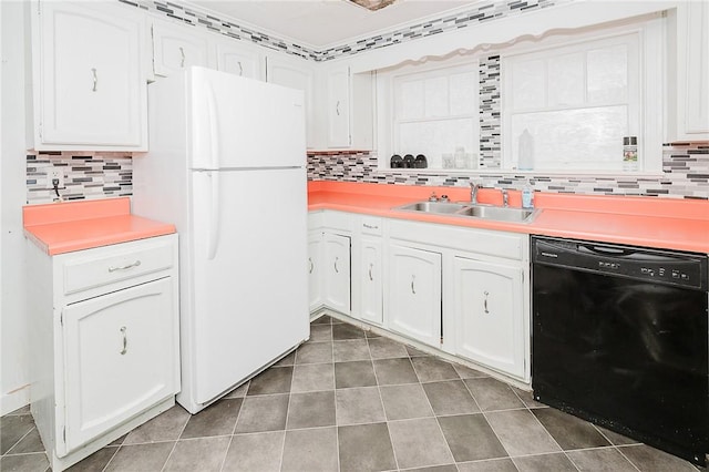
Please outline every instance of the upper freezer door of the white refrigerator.
[[193, 68], [192, 168], [305, 166], [302, 91]]

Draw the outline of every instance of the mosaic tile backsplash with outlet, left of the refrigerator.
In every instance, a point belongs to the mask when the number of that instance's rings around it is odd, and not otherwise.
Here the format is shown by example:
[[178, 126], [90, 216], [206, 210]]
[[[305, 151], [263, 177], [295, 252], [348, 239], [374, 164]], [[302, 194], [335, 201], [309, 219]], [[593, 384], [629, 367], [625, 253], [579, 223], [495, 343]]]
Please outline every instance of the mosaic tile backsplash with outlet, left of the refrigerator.
[[56, 196], [47, 188], [49, 168], [61, 168], [64, 201], [99, 199], [131, 195], [133, 161], [130, 153], [49, 152], [27, 156], [27, 203], [51, 203]]

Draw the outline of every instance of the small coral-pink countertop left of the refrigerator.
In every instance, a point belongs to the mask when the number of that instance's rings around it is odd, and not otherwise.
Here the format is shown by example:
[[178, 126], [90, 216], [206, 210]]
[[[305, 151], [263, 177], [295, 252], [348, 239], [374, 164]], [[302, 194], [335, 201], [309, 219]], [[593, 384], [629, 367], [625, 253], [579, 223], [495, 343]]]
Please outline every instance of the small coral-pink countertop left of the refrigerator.
[[175, 233], [175, 226], [131, 215], [129, 197], [28, 205], [24, 234], [53, 256]]

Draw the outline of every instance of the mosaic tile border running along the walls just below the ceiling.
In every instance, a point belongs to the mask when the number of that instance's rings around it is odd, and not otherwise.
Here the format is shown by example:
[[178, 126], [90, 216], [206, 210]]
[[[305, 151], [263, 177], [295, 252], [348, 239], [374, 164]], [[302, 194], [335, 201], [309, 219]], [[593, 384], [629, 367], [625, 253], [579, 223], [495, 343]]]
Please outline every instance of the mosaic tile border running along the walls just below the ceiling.
[[384, 34], [363, 38], [358, 41], [339, 44], [323, 50], [311, 49], [281, 38], [273, 37], [265, 32], [257, 31], [256, 29], [247, 28], [234, 22], [238, 21], [237, 19], [217, 18], [214, 14], [201, 12], [196, 9], [189, 8], [187, 4], [181, 4], [178, 2], [158, 0], [117, 1], [155, 14], [165, 16], [184, 24], [194, 25], [217, 34], [223, 34], [234, 40], [250, 41], [260, 47], [296, 55], [301, 59], [322, 62], [394, 44], [401, 44], [421, 38], [429, 38], [443, 32], [467, 28], [477, 23], [494, 21], [506, 17], [522, 14], [527, 11], [548, 8], [571, 0], [482, 1], [471, 10], [410, 24]]

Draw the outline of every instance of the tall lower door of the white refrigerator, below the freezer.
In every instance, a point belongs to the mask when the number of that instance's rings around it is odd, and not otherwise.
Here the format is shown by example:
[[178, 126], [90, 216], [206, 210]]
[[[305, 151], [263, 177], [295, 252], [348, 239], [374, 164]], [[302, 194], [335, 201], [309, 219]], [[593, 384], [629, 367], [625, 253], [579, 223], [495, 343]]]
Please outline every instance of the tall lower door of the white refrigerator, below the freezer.
[[186, 381], [204, 403], [309, 336], [306, 174], [193, 172], [192, 185]]

